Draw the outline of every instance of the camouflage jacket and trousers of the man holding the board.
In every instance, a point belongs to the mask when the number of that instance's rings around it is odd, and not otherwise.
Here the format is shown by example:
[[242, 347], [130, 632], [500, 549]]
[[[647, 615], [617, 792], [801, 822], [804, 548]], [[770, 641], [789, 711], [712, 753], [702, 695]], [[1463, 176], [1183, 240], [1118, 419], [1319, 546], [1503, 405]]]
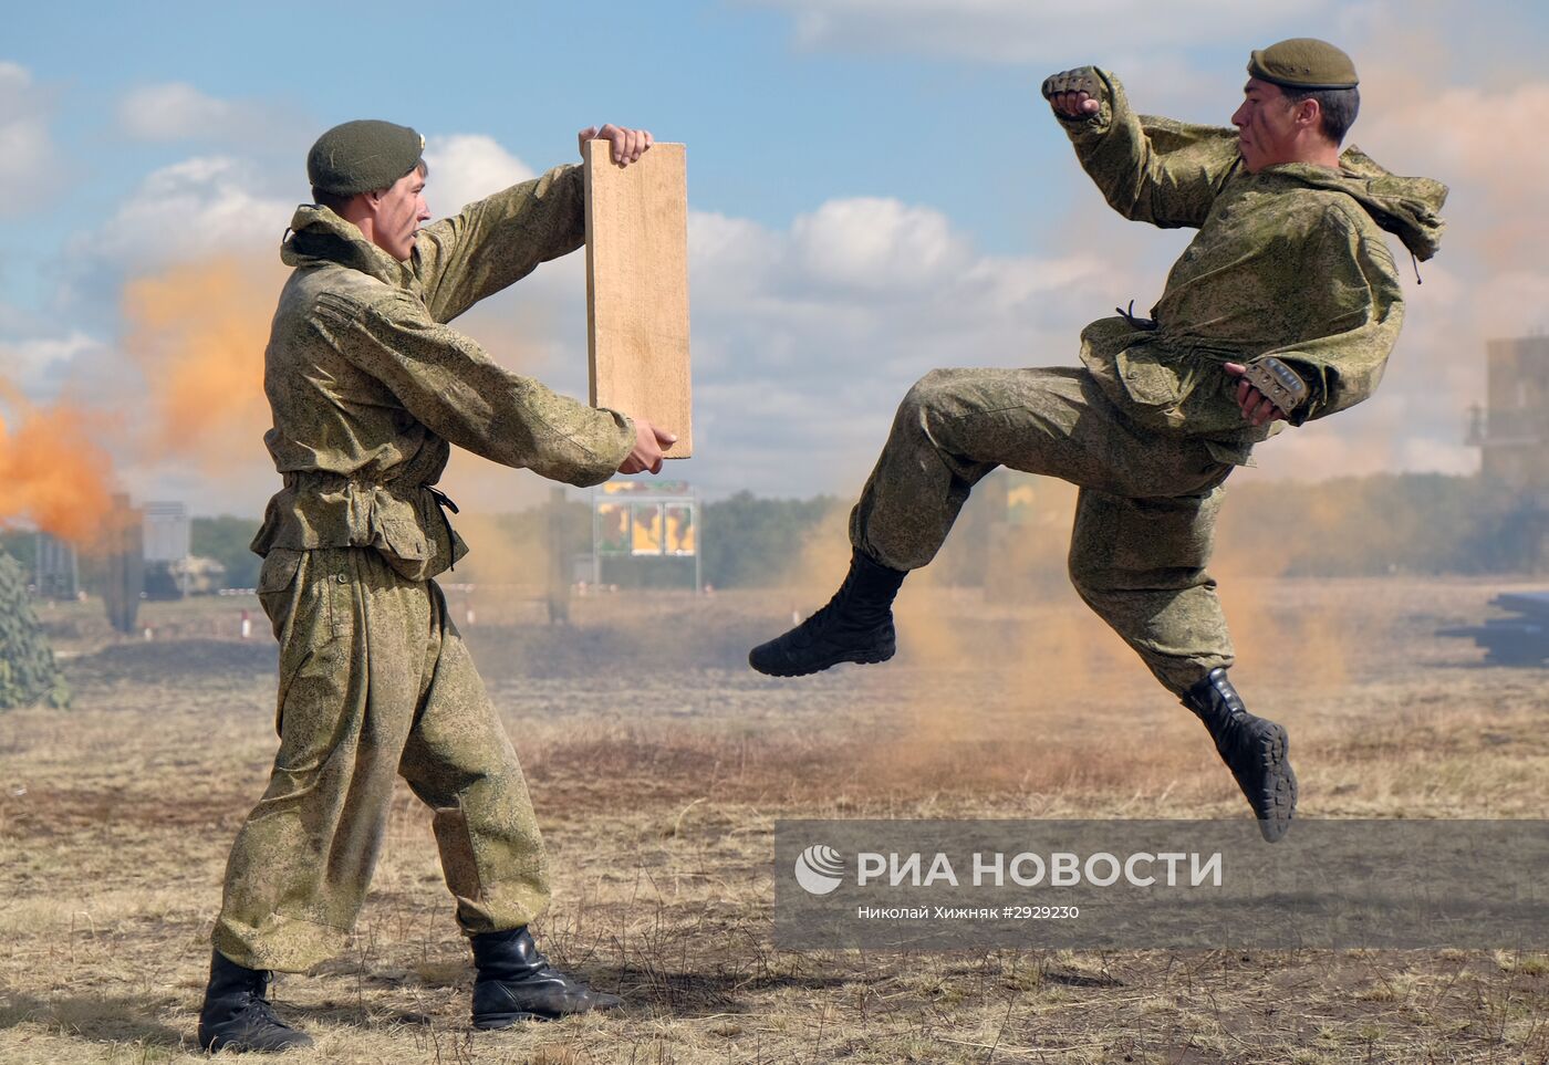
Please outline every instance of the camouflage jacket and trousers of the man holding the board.
[[280, 641], [280, 748], [226, 868], [215, 947], [304, 971], [355, 924], [393, 777], [434, 813], [469, 933], [548, 901], [511, 741], [431, 580], [466, 553], [431, 489], [459, 444], [572, 485], [607, 480], [634, 424], [496, 365], [446, 322], [584, 241], [579, 167], [558, 167], [420, 231], [400, 263], [302, 206], [265, 354], [283, 475], [252, 543]]

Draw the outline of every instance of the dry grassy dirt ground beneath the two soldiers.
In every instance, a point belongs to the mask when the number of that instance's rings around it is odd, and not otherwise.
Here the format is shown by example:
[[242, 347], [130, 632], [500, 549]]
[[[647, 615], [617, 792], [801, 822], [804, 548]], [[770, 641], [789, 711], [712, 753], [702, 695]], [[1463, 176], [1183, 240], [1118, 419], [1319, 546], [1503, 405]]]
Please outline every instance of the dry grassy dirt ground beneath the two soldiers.
[[[1437, 628], [1501, 587], [1238, 582], [1233, 670], [1290, 728], [1304, 817], [1549, 816], [1549, 673]], [[1549, 1062], [1549, 957], [1445, 952], [790, 952], [779, 817], [1245, 817], [1199, 724], [1067, 593], [908, 588], [884, 667], [773, 681], [748, 644], [796, 593], [449, 593], [527, 766], [555, 868], [539, 943], [624, 995], [474, 1034], [429, 817], [400, 789], [352, 947], [276, 985], [283, 1060]], [[43, 610], [76, 690], [0, 715], [0, 1062], [194, 1060], [231, 839], [274, 751], [251, 599]], [[1549, 870], [1546, 870], [1549, 873]]]

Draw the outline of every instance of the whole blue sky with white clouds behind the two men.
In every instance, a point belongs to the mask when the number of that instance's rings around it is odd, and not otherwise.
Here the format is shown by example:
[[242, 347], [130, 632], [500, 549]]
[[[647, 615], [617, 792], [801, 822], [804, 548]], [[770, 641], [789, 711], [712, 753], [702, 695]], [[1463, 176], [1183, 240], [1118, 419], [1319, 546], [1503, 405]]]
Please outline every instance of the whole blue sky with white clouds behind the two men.
[[[1484, 337], [1543, 325], [1549, 296], [1529, 180], [1549, 163], [1546, 15], [1385, 0], [1154, 8], [158, 3], [85, 19], [28, 5], [0, 51], [0, 385], [99, 404], [133, 437], [155, 385], [124, 354], [124, 286], [237, 257], [259, 271], [243, 305], [271, 305], [262, 271], [307, 197], [305, 149], [333, 122], [426, 133], [445, 159], [428, 190], [445, 214], [460, 204], [438, 195], [572, 161], [575, 130], [615, 121], [689, 146], [699, 457], [674, 474], [711, 495], [850, 494], [915, 376], [1070, 364], [1080, 327], [1115, 302], [1149, 305], [1187, 240], [1103, 206], [1036, 99], [1042, 76], [1098, 62], [1140, 110], [1224, 122], [1247, 50], [1310, 34], [1362, 68], [1352, 139], [1448, 181], [1453, 229], [1410, 289], [1379, 398], [1272, 441], [1252, 475], [1472, 469], [1461, 437], [1484, 392]], [[586, 381], [578, 259], [463, 322], [507, 365], [572, 392]], [[115, 475], [141, 497], [257, 514], [274, 475], [248, 440], [189, 441], [204, 458], [232, 452], [218, 475], [119, 440]], [[476, 498], [536, 495], [531, 475], [485, 466], [459, 460], [451, 480]]]

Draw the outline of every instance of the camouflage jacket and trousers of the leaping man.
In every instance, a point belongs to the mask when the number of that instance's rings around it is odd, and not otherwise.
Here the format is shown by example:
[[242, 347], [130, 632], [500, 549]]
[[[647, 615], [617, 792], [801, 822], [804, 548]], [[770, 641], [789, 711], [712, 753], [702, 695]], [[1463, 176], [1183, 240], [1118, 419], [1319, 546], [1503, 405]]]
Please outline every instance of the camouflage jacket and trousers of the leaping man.
[[1063, 119], [1081, 166], [1126, 218], [1199, 234], [1151, 320], [1083, 331], [1083, 368], [926, 375], [898, 409], [850, 540], [914, 570], [996, 466], [1078, 485], [1070, 577], [1182, 693], [1233, 661], [1205, 563], [1222, 481], [1279, 429], [1245, 423], [1222, 365], [1275, 354], [1293, 367], [1312, 389], [1293, 424], [1371, 395], [1403, 317], [1382, 229], [1430, 259], [1447, 190], [1354, 147], [1338, 172], [1248, 173], [1235, 130], [1137, 116], [1100, 74], [1101, 110]]

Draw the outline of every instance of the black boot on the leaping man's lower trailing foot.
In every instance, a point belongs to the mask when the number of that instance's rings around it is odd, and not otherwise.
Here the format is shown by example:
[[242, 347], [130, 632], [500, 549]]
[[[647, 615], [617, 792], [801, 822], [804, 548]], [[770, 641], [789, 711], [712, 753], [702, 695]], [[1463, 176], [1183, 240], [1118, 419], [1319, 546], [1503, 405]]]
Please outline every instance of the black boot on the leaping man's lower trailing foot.
[[1183, 706], [1210, 729], [1221, 760], [1259, 819], [1264, 839], [1279, 841], [1297, 813], [1297, 774], [1290, 768], [1286, 729], [1248, 714], [1224, 669], [1210, 670], [1205, 680], [1183, 692]]

